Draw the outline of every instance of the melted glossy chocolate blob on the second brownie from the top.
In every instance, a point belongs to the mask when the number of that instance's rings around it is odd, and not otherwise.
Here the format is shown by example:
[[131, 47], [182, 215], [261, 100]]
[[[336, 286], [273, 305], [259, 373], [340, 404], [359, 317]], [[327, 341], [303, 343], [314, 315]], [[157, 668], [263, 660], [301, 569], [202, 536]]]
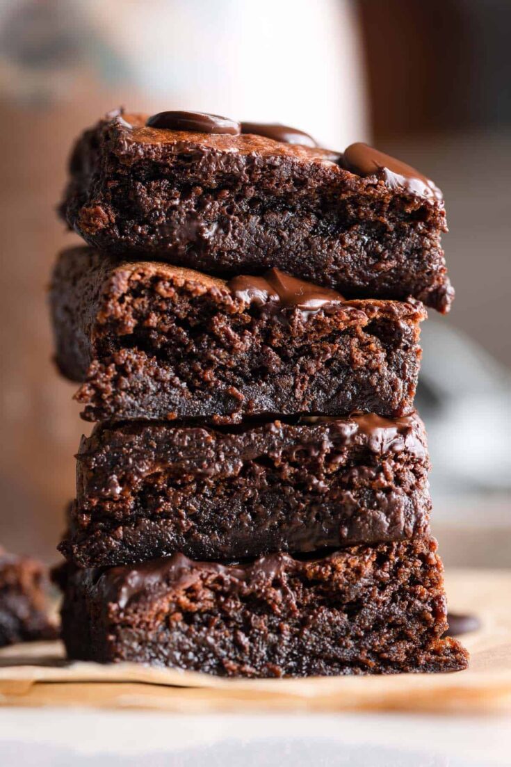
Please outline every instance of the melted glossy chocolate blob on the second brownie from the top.
[[345, 299], [335, 290], [312, 285], [311, 282], [299, 280], [296, 277], [272, 268], [262, 277], [239, 275], [227, 283], [227, 287], [236, 298], [241, 298], [246, 304], [263, 307], [298, 309], [305, 318], [315, 314], [321, 308], [344, 303]]

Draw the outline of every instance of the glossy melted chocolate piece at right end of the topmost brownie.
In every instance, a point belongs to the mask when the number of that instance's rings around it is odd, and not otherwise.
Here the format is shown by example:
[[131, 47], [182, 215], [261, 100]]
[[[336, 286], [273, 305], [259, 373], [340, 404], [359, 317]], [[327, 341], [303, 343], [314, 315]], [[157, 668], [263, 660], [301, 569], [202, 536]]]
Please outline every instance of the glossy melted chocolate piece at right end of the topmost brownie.
[[345, 150], [344, 164], [348, 170], [357, 173], [358, 176], [383, 173], [385, 183], [392, 189], [395, 186], [404, 186], [413, 194], [434, 197], [439, 201], [443, 199], [440, 189], [433, 181], [410, 165], [401, 163], [401, 160], [396, 160], [388, 154], [378, 152], [368, 144], [361, 142], [350, 144]]

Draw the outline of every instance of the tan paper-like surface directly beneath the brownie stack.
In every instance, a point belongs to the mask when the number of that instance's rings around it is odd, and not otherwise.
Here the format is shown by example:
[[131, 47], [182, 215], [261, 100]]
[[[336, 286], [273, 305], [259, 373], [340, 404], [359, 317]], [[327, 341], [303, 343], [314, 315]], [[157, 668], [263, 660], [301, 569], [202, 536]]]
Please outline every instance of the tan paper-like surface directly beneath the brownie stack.
[[450, 609], [480, 617], [463, 637], [469, 670], [449, 674], [226, 680], [137, 664], [68, 663], [58, 642], [0, 651], [3, 706], [219, 711], [511, 711], [511, 571], [447, 574]]

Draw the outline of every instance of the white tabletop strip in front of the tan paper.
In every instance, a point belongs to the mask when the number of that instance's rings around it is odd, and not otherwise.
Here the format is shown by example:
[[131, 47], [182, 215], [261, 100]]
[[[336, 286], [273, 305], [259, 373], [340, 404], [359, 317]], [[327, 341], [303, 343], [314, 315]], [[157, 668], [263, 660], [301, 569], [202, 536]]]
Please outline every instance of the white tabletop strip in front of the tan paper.
[[509, 716], [181, 716], [1, 709], [2, 767], [511, 765]]

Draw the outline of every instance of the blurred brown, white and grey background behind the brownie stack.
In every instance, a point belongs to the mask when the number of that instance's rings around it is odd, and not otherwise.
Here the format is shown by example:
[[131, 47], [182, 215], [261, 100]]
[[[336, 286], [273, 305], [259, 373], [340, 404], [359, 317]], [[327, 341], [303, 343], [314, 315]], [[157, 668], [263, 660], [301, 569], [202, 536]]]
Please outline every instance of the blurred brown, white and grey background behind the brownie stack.
[[511, 566], [508, 0], [1, 0], [0, 542], [56, 558], [89, 426], [51, 364], [45, 289], [72, 140], [122, 104], [355, 140], [443, 189], [457, 300], [417, 397], [448, 565]]

